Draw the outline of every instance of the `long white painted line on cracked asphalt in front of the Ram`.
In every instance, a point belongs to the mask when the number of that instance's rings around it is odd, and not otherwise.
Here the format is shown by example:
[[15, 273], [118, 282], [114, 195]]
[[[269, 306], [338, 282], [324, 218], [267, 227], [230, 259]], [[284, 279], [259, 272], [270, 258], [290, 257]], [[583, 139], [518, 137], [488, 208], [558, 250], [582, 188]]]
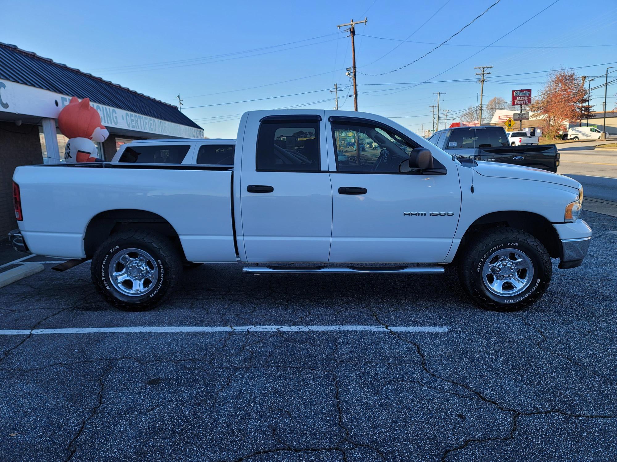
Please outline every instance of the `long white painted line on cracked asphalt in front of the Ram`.
[[59, 329], [0, 329], [0, 335], [38, 334], [102, 334], [126, 332], [328, 332], [328, 331], [370, 331], [370, 332], [447, 332], [445, 326], [135, 326], [135, 327], [83, 327]]

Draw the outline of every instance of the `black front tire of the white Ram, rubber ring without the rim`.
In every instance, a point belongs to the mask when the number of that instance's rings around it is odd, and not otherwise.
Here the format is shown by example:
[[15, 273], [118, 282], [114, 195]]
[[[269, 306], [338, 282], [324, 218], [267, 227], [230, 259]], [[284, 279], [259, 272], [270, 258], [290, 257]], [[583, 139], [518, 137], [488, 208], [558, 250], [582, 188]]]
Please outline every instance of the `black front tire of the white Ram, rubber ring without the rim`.
[[[484, 284], [484, 278], [482, 275], [482, 268], [486, 259], [499, 249], [513, 248], [520, 249], [521, 252], [527, 254], [534, 266], [534, 276], [531, 285], [523, 292], [510, 297], [502, 297], [492, 293], [486, 284]], [[482, 298], [489, 299], [493, 303], [500, 307], [510, 309], [515, 308], [519, 304], [526, 304], [528, 300], [533, 300], [539, 294], [542, 294], [541, 288], [550, 280], [550, 275], [547, 274], [546, 268], [542, 261], [542, 256], [534, 246], [529, 245], [525, 241], [518, 240], [516, 238], [502, 238], [491, 241], [488, 245], [484, 246], [484, 251], [478, 261], [474, 262], [473, 275], [471, 277], [471, 283], [474, 288], [481, 294]]]

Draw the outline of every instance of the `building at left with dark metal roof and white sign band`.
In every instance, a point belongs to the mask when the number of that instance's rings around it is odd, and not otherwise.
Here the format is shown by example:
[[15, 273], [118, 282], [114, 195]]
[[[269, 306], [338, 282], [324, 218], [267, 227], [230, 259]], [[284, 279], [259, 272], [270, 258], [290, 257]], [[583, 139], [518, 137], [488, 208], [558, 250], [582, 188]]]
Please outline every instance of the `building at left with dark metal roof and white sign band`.
[[64, 161], [67, 138], [57, 129], [57, 117], [73, 96], [89, 98], [109, 130], [97, 145], [102, 160], [135, 139], [204, 136], [173, 105], [0, 43], [0, 235], [17, 226], [11, 188], [15, 167]]

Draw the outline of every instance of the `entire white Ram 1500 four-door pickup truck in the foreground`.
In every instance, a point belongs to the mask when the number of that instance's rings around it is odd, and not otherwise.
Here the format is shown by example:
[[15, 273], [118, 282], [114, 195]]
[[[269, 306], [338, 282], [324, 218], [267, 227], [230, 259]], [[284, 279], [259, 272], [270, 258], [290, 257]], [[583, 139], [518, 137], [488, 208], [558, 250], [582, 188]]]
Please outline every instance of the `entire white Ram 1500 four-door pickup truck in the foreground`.
[[160, 302], [191, 262], [403, 275], [452, 264], [479, 306], [520, 309], [549, 286], [551, 257], [577, 267], [591, 237], [575, 180], [449, 155], [347, 111], [247, 112], [233, 168], [19, 167], [14, 197], [16, 245], [72, 259], [60, 269], [91, 259], [97, 290], [126, 310]]

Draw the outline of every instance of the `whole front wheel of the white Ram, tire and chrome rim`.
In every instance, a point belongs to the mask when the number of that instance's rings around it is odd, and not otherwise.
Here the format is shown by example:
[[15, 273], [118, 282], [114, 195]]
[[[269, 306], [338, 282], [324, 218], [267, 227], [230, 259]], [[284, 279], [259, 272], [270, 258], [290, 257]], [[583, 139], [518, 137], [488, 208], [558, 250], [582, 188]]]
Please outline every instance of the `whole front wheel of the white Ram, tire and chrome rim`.
[[514, 311], [530, 306], [544, 294], [553, 267], [539, 240], [506, 227], [477, 236], [458, 264], [460, 283], [476, 305]]

